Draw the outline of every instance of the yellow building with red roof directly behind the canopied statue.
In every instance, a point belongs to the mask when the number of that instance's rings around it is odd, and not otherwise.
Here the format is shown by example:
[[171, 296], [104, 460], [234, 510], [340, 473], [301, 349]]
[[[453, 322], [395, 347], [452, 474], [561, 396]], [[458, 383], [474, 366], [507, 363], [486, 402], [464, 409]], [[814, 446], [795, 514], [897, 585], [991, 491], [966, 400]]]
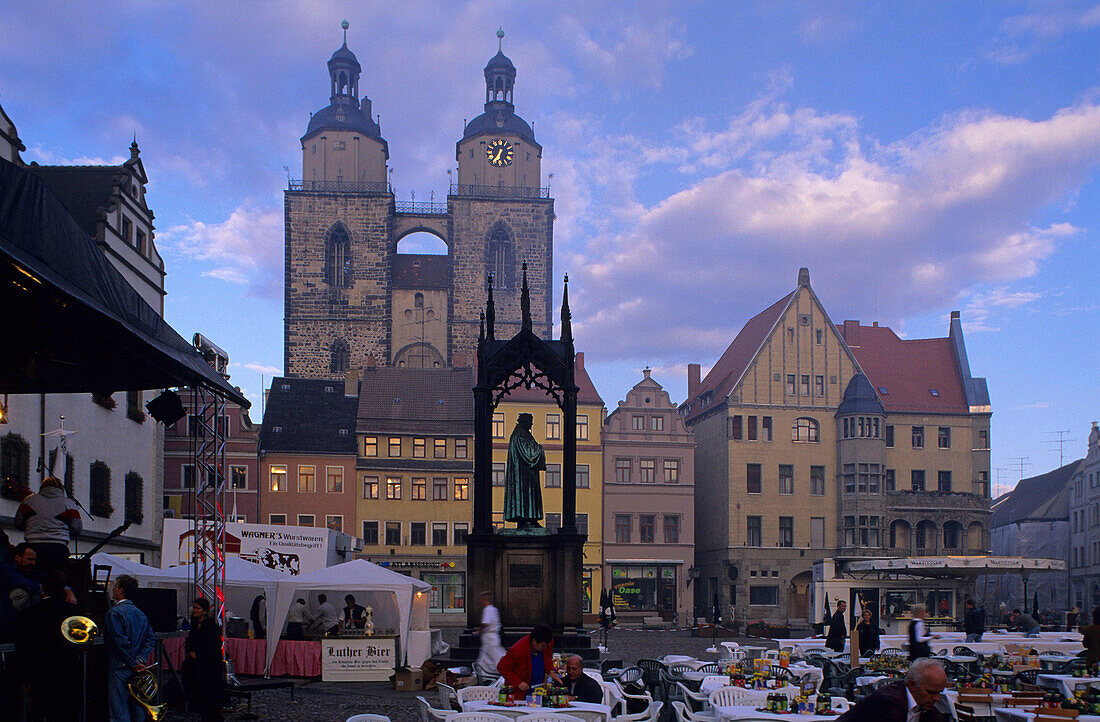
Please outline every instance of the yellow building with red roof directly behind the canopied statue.
[[[576, 530], [587, 534], [584, 544], [582, 586], [586, 614], [597, 610], [593, 590], [598, 601], [604, 580], [601, 573], [603, 544], [603, 445], [601, 429], [604, 420], [604, 402], [584, 370], [584, 354], [576, 354]], [[547, 470], [542, 474], [543, 525], [552, 533], [561, 526], [561, 468], [562, 418], [561, 409], [543, 392], [517, 389], [509, 393], [493, 414], [493, 524], [496, 527], [514, 526], [504, 521], [504, 470], [508, 458], [508, 438], [520, 414], [535, 418], [531, 435], [542, 445], [547, 455]]]

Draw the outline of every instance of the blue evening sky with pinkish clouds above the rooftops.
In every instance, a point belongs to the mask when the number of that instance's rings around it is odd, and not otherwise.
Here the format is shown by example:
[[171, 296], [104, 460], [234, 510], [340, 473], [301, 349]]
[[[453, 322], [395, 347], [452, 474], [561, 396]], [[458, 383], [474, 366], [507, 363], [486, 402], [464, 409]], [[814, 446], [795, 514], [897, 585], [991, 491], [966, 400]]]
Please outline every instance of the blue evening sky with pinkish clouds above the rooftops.
[[[351, 23], [399, 199], [447, 192], [482, 67], [518, 68], [554, 266], [609, 408], [673, 398], [809, 266], [835, 321], [963, 311], [1002, 484], [1100, 417], [1100, 4], [51, 2], [0, 8], [0, 103], [41, 163], [150, 174], [166, 315], [282, 371], [283, 199]], [[258, 417], [258, 414], [255, 414]]]

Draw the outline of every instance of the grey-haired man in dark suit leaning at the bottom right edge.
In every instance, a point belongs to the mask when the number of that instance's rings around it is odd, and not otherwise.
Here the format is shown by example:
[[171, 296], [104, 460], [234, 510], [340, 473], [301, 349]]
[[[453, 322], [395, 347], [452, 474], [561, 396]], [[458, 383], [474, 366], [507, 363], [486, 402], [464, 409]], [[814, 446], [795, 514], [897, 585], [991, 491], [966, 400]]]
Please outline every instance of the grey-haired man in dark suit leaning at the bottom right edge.
[[947, 674], [935, 659], [922, 657], [909, 667], [904, 681], [890, 682], [859, 700], [837, 722], [944, 722], [935, 709], [947, 687]]

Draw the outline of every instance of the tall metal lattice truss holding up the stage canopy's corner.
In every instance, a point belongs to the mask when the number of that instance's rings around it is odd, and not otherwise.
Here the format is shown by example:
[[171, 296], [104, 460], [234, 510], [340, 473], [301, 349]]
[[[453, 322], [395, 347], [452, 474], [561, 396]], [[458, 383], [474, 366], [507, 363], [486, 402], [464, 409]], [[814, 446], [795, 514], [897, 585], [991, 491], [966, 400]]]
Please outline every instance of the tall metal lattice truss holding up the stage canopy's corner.
[[218, 619], [226, 613], [226, 397], [204, 386], [191, 387], [187, 419], [195, 464], [191, 579], [195, 594], [209, 599]]

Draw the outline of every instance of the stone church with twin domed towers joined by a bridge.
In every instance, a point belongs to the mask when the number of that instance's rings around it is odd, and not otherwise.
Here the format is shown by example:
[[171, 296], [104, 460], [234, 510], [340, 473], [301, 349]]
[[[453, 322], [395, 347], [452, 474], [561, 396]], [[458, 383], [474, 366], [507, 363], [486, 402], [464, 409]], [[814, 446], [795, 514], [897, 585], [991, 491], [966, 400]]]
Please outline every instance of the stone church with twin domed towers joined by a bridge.
[[[346, 42], [328, 68], [330, 103], [310, 119], [301, 179], [285, 197], [286, 375], [343, 379], [373, 361], [466, 365], [491, 274], [497, 335], [519, 330], [525, 263], [535, 331], [549, 337], [553, 199], [540, 186], [542, 146], [515, 112], [512, 61], [498, 51], [485, 66], [485, 111], [457, 143], [446, 204], [395, 200], [389, 149], [371, 100], [359, 99], [362, 68]], [[447, 254], [398, 253], [417, 232]]]

